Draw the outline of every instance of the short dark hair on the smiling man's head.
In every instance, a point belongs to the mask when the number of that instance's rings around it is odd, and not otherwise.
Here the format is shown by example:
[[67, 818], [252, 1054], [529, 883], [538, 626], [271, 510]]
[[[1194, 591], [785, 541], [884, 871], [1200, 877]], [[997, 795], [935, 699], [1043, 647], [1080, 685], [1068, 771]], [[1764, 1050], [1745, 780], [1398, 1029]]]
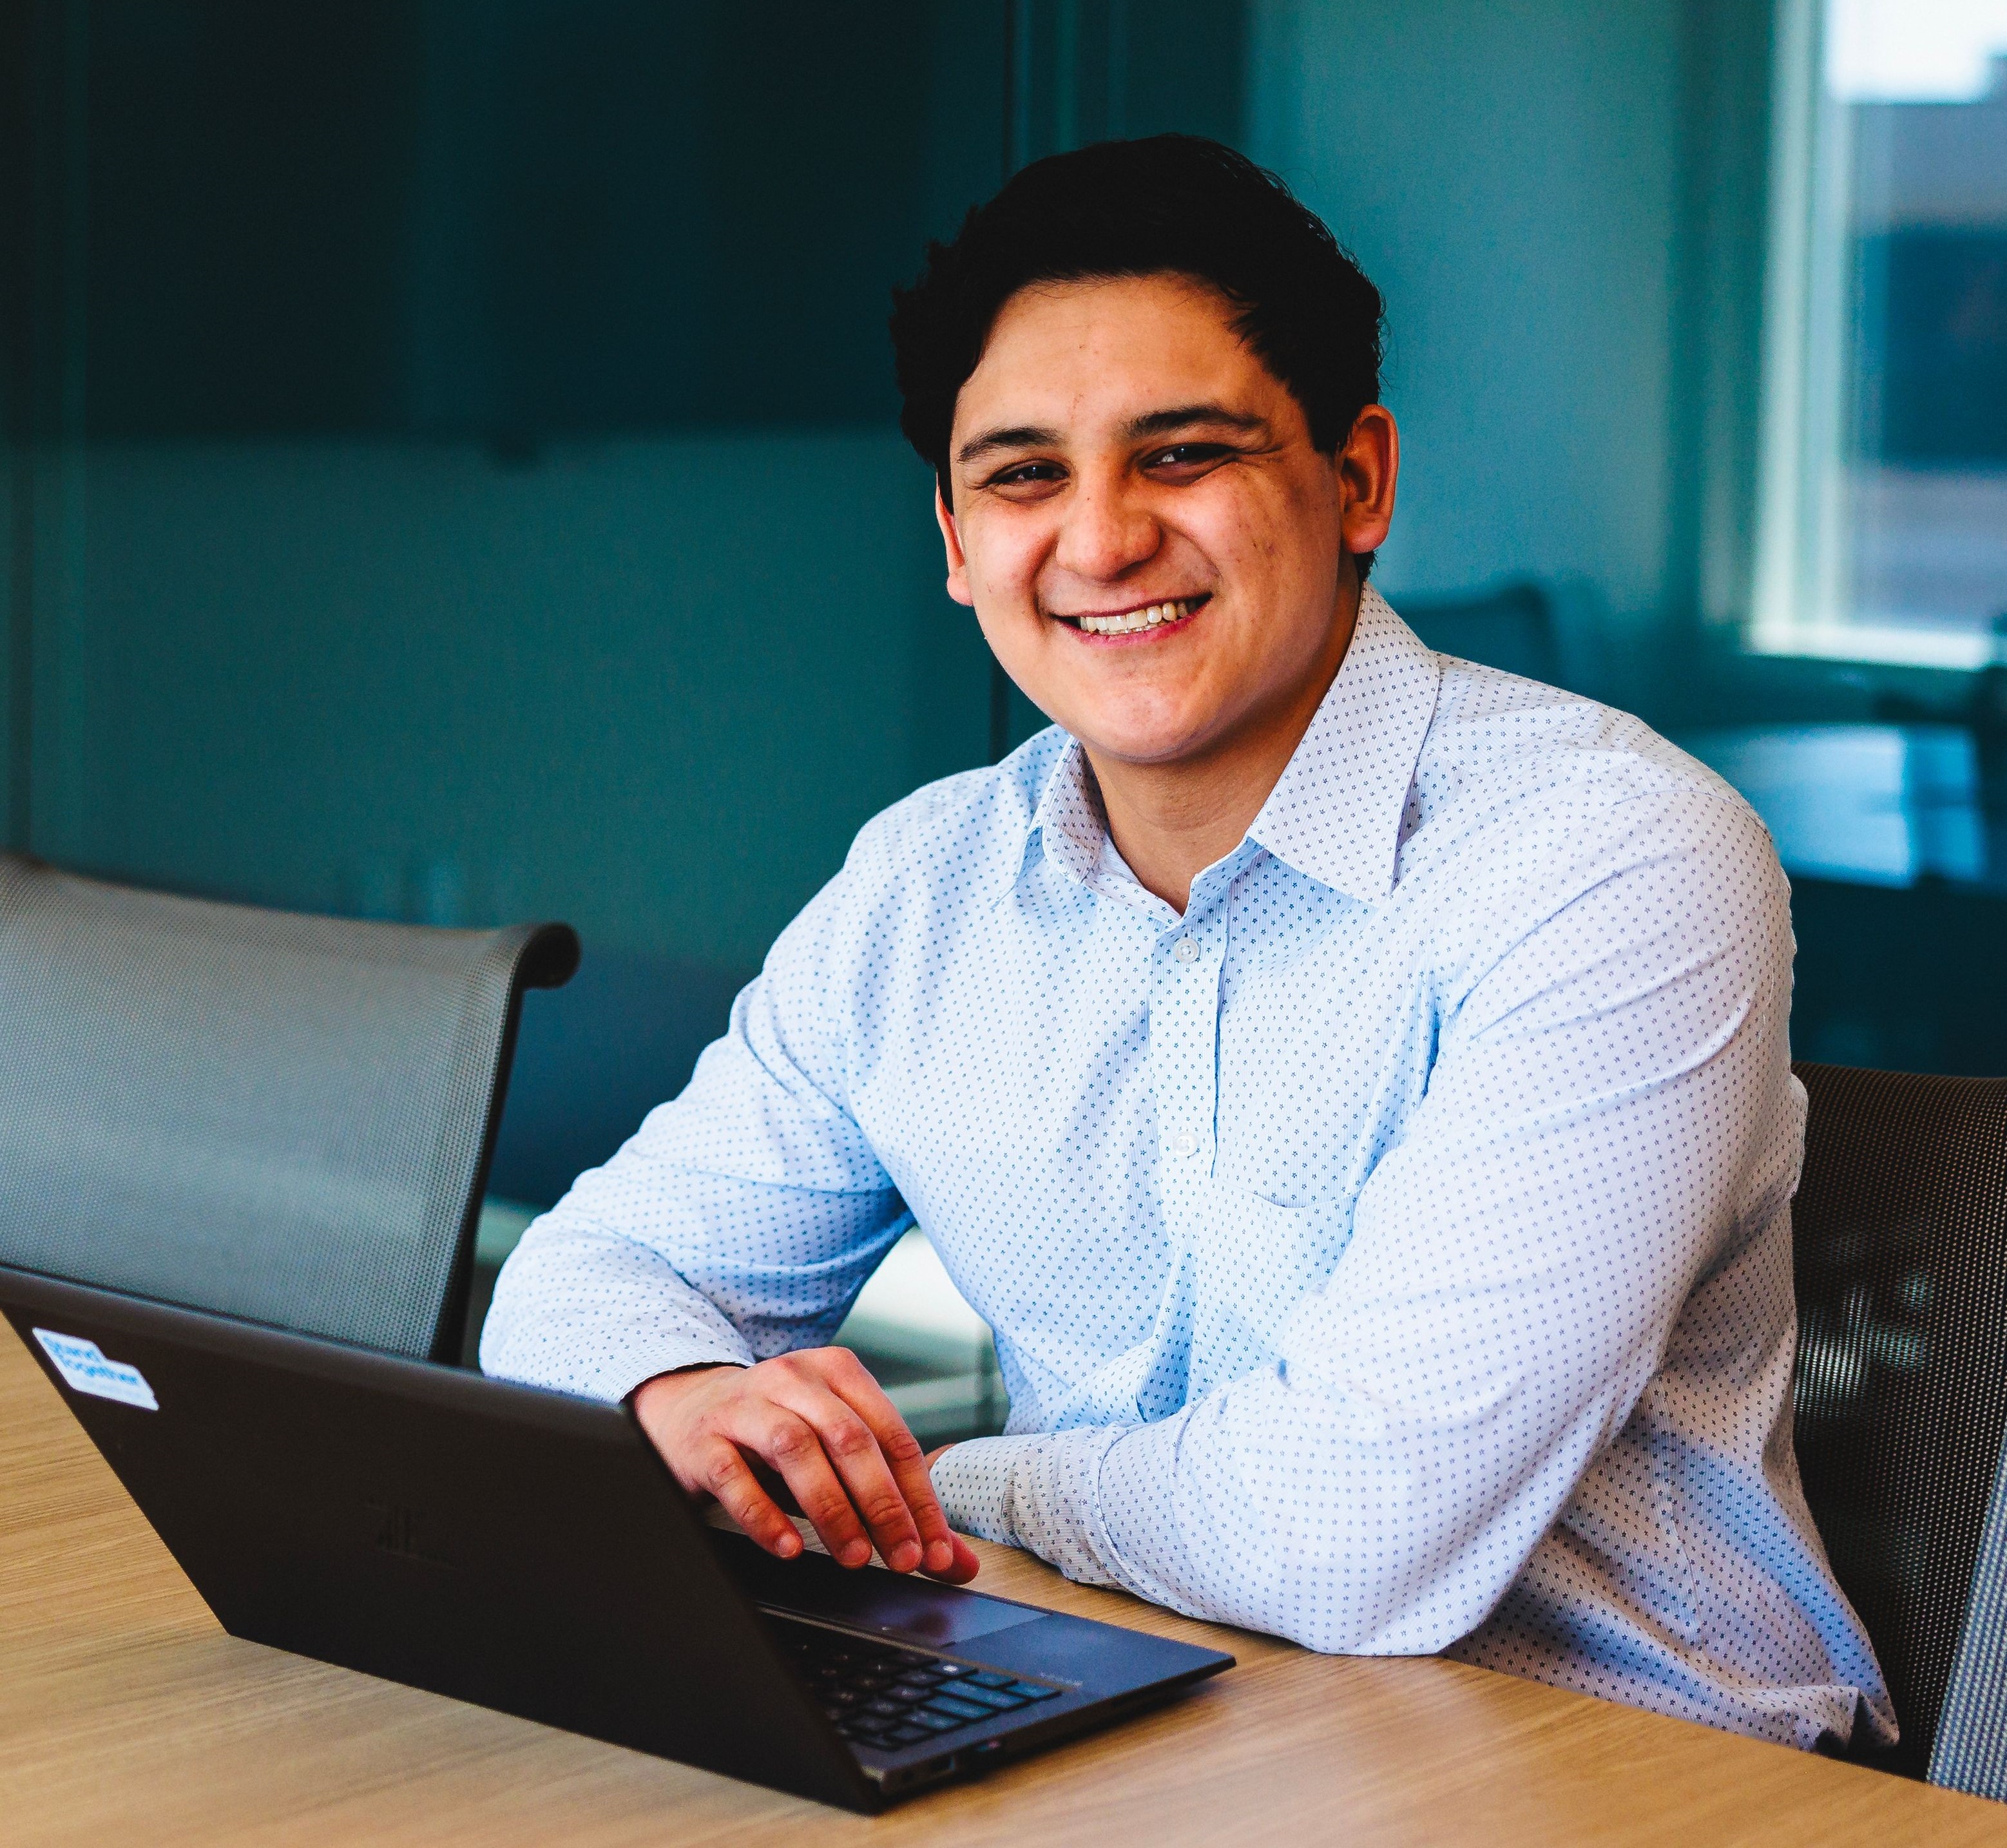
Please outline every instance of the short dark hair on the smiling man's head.
[[[953, 506], [955, 397], [1004, 303], [1032, 283], [1166, 273], [1236, 307], [1234, 329], [1303, 405], [1311, 441], [1337, 453], [1379, 399], [1379, 289], [1272, 173], [1198, 134], [1152, 134], [1034, 161], [893, 289], [899, 427], [941, 500]], [[1357, 562], [1363, 578], [1373, 554]]]

